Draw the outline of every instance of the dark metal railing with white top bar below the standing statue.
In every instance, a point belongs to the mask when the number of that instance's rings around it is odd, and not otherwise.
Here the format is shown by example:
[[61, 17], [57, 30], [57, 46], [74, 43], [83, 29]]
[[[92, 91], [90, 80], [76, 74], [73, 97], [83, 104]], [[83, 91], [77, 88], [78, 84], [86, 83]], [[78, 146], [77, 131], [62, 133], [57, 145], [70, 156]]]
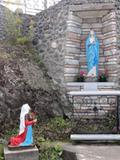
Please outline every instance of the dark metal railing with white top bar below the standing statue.
[[120, 91], [68, 93], [72, 103], [74, 133], [118, 133]]

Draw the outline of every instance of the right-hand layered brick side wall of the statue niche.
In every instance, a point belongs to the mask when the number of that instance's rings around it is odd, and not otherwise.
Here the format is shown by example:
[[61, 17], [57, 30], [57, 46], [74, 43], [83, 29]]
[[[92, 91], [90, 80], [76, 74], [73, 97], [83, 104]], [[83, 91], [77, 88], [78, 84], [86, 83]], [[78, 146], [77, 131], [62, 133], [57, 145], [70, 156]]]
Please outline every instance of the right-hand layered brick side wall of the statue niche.
[[102, 18], [105, 67], [108, 69], [109, 81], [117, 81], [118, 54], [115, 11]]

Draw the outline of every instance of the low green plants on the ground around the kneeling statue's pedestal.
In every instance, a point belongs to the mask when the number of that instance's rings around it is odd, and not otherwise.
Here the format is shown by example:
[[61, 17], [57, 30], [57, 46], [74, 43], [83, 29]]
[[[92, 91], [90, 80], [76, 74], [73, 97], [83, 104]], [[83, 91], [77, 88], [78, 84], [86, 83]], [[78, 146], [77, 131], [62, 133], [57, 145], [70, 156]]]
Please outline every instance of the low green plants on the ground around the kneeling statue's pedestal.
[[[57, 141], [57, 139], [66, 141], [69, 138], [70, 131], [70, 120], [55, 117], [42, 124], [39, 122], [38, 117], [38, 125], [34, 126], [34, 138], [40, 153], [39, 159], [62, 160], [63, 142]], [[11, 136], [17, 135], [17, 133], [17, 129], [7, 130], [4, 138], [8, 139]]]

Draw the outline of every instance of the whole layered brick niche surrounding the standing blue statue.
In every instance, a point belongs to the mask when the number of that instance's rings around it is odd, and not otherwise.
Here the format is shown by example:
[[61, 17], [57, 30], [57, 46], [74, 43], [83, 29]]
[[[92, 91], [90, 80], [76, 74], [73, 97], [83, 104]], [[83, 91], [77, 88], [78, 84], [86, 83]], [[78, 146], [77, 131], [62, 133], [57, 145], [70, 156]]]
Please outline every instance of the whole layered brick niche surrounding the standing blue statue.
[[65, 82], [74, 82], [80, 70], [87, 73], [85, 41], [90, 28], [100, 42], [99, 71], [108, 70], [109, 81], [117, 81], [117, 27], [114, 4], [71, 5], [67, 20]]

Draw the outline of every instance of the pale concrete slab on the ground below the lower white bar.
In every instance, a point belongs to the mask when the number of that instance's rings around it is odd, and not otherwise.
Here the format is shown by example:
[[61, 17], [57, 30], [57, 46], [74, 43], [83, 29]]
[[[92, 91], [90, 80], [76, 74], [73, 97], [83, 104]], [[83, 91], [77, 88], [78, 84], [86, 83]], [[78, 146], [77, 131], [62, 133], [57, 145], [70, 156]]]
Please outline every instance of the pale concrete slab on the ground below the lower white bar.
[[120, 160], [118, 145], [72, 145], [63, 147], [64, 160]]

